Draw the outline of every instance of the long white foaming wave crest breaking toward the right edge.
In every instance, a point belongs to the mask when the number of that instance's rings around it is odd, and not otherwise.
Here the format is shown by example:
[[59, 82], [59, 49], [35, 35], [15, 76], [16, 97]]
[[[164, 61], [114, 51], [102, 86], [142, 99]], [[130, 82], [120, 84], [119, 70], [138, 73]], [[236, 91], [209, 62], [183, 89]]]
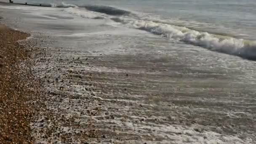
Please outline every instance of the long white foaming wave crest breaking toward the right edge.
[[208, 32], [198, 32], [186, 27], [170, 24], [155, 23], [153, 21], [112, 18], [113, 21], [123, 23], [128, 27], [145, 30], [156, 35], [179, 40], [192, 45], [207, 48], [211, 51], [240, 56], [245, 59], [256, 60], [256, 41], [236, 39], [234, 37], [213, 35]]

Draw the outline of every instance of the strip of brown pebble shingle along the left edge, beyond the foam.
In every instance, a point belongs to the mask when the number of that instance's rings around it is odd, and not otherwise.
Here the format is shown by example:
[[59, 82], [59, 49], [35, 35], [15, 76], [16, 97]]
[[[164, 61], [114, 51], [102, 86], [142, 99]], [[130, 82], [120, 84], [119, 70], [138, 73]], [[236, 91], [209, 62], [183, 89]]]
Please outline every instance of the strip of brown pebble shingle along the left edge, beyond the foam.
[[[31, 77], [32, 52], [19, 45], [29, 34], [0, 25], [0, 143], [32, 143], [37, 81]], [[31, 89], [33, 85], [34, 89]]]

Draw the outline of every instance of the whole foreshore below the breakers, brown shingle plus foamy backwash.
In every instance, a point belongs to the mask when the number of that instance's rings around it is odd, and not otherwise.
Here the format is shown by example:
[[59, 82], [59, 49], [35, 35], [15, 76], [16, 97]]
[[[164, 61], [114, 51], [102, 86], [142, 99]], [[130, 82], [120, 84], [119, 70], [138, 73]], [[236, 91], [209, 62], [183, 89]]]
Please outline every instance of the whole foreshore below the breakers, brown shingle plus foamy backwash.
[[[152, 23], [138, 30], [109, 16], [125, 11], [4, 4], [1, 10], [0, 23], [23, 32], [0, 27], [0, 83], [6, 85], [0, 89], [1, 102], [9, 106], [0, 107], [0, 141], [256, 141], [256, 64], [248, 60], [254, 55], [167, 40], [170, 36], [149, 32]], [[21, 118], [11, 117], [13, 112]]]

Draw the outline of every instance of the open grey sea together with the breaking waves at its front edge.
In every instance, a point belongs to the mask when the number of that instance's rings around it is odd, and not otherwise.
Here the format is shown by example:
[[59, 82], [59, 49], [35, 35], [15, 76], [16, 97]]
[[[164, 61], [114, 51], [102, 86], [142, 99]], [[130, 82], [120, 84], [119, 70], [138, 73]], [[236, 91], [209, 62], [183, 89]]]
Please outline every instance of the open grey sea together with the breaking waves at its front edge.
[[[170, 40], [256, 59], [254, 0], [15, 0], [88, 19], [110, 19]], [[92, 13], [94, 12], [94, 13]]]

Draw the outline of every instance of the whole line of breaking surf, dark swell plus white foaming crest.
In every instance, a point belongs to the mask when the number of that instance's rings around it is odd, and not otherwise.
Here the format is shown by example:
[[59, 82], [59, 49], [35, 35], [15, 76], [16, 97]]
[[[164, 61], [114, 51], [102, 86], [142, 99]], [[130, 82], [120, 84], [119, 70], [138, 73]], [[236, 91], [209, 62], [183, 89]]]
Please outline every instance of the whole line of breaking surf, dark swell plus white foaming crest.
[[[111, 19], [115, 22], [122, 23], [127, 27], [151, 32], [152, 34], [161, 35], [172, 40], [197, 45], [211, 51], [227, 53], [240, 56], [244, 59], [256, 61], [256, 41], [238, 39], [230, 35], [226, 36], [211, 34], [209, 32], [200, 32], [187, 27], [178, 27], [175, 25], [166, 24], [161, 21], [151, 21], [137, 18], [134, 19], [131, 18], [132, 13], [130, 11], [121, 10], [111, 6], [85, 5], [78, 7], [77, 5], [66, 3], [52, 6], [67, 8], [64, 11], [90, 19], [105, 19], [109, 17], [106, 14], [112, 16], [121, 16], [112, 17]], [[86, 8], [88, 11], [83, 11], [81, 8]]]

